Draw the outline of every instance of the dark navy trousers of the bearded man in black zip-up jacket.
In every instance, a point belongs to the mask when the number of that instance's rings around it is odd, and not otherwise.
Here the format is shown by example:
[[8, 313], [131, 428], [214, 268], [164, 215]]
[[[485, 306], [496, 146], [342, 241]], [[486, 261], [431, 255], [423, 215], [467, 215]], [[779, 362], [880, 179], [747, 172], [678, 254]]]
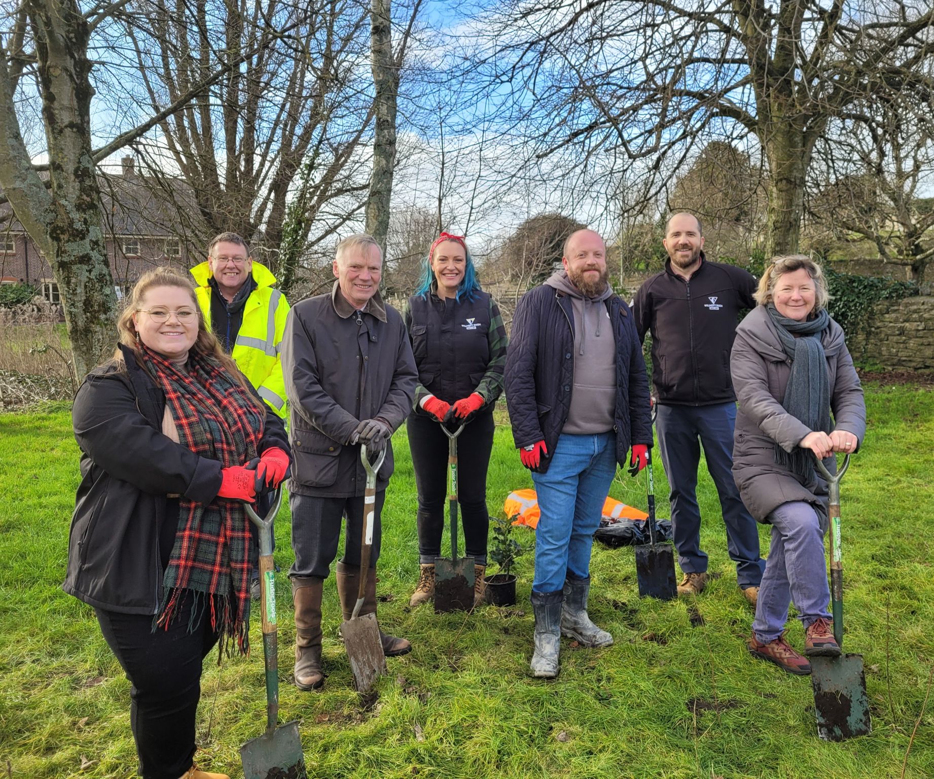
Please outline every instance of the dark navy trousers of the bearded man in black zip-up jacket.
[[736, 578], [745, 589], [758, 586], [765, 560], [759, 557], [757, 522], [746, 511], [733, 481], [735, 424], [734, 403], [658, 404], [658, 448], [672, 490], [672, 540], [678, 550], [678, 564], [686, 574], [707, 571], [707, 555], [701, 551], [701, 508], [697, 499], [703, 446], [707, 470], [714, 479], [727, 526], [729, 558], [736, 563]]

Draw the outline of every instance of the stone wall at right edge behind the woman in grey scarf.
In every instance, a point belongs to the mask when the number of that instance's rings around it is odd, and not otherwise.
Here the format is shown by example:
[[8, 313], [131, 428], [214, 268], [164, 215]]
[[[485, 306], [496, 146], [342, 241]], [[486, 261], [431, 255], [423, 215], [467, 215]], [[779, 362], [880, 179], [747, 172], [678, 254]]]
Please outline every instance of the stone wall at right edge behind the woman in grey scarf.
[[881, 301], [870, 322], [870, 332], [847, 339], [854, 360], [888, 371], [934, 370], [934, 297]]

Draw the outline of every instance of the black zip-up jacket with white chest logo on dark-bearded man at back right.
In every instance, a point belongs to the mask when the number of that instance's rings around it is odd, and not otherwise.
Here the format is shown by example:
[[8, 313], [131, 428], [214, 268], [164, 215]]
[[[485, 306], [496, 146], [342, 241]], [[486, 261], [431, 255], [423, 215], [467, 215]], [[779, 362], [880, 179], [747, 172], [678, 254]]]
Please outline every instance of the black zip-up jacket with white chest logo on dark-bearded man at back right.
[[[703, 253], [701, 252], [701, 258]], [[648, 278], [632, 303], [642, 341], [652, 333], [652, 383], [658, 403], [714, 405], [736, 400], [729, 352], [744, 309], [756, 307], [754, 276], [701, 259], [686, 280], [672, 270]]]

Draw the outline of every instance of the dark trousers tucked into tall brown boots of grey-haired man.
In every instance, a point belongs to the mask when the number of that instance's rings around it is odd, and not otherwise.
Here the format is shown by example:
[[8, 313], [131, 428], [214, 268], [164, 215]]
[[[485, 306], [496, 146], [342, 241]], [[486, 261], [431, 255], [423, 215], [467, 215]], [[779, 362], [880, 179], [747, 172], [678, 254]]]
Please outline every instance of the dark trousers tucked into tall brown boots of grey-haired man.
[[[373, 549], [370, 568], [376, 567], [382, 526], [379, 521], [386, 501], [386, 490], [376, 491], [373, 517]], [[326, 579], [331, 563], [337, 557], [337, 542], [341, 534], [341, 518], [347, 517], [344, 557], [341, 562], [359, 566], [363, 536], [363, 496], [358, 498], [318, 498], [310, 495], [289, 496], [292, 515], [292, 551], [295, 562], [290, 576], [316, 576]]]

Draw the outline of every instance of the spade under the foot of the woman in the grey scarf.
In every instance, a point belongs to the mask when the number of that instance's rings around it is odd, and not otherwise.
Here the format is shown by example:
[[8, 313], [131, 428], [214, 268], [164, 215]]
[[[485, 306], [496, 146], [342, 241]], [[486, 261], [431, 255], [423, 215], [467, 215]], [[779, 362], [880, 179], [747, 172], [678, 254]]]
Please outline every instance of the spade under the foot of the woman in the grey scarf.
[[[843, 645], [843, 554], [840, 531], [840, 480], [850, 465], [846, 455], [842, 468], [831, 475], [824, 463], [817, 468], [827, 479], [830, 503], [830, 601], [833, 611], [833, 637]], [[872, 729], [870, 702], [866, 695], [866, 674], [862, 655], [837, 658], [809, 658], [814, 686], [817, 734], [825, 741], [843, 741], [864, 736]]]

